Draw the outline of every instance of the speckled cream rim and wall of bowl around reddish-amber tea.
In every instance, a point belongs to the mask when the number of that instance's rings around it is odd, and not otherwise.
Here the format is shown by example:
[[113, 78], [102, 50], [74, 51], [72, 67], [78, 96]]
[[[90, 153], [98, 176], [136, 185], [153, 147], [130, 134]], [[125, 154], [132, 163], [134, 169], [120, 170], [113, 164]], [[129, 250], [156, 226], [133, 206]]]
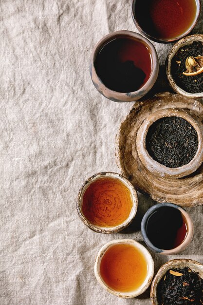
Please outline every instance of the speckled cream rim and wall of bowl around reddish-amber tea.
[[[128, 190], [131, 194], [131, 198], [132, 198], [132, 210], [129, 214], [129, 217], [122, 224], [115, 226], [115, 227], [99, 227], [99, 226], [93, 225], [84, 216], [84, 214], [82, 212], [83, 195], [84, 195], [85, 191], [87, 190], [87, 188], [90, 186], [90, 184], [92, 182], [94, 182], [95, 180], [104, 178], [104, 177], [111, 177], [111, 178], [120, 180], [128, 188]], [[77, 212], [79, 214], [79, 217], [84, 222], [84, 224], [86, 226], [88, 226], [88, 228], [90, 228], [93, 231], [98, 232], [98, 233], [117, 233], [117, 232], [125, 229], [126, 227], [128, 227], [129, 224], [132, 222], [133, 218], [135, 217], [135, 214], [137, 212], [137, 206], [138, 206], [138, 197], [137, 197], [137, 192], [135, 191], [134, 187], [132, 186], [132, 184], [129, 182], [128, 179], [126, 179], [122, 175], [115, 173], [115, 172], [100, 172], [100, 173], [93, 175], [92, 177], [90, 177], [83, 183], [83, 185], [78, 193]]]

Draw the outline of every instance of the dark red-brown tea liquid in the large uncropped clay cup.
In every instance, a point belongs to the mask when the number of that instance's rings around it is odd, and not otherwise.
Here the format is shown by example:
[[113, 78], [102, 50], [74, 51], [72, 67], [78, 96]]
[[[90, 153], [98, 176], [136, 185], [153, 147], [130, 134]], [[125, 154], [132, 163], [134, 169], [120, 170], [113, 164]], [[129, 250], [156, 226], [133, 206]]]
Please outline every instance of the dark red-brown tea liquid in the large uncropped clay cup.
[[106, 87], [129, 93], [137, 91], [148, 81], [152, 62], [148, 47], [142, 41], [119, 37], [100, 49], [94, 67]]

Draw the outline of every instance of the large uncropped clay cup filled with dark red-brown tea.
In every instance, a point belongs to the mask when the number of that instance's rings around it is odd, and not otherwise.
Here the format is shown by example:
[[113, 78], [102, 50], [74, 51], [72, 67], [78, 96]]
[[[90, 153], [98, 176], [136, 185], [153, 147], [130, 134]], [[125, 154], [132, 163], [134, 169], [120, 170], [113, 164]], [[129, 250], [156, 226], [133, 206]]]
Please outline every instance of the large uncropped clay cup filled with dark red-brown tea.
[[153, 87], [159, 61], [152, 43], [140, 34], [118, 31], [102, 38], [90, 59], [95, 88], [116, 102], [140, 99]]

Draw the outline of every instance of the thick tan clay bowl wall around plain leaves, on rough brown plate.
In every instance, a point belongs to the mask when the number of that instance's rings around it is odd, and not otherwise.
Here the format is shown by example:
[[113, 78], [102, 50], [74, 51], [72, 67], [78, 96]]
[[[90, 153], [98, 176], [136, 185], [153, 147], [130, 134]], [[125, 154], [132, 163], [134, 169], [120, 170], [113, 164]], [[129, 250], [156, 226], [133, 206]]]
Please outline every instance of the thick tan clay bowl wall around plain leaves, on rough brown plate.
[[[167, 116], [184, 118], [194, 127], [198, 135], [198, 149], [194, 158], [188, 164], [177, 168], [169, 168], [155, 161], [146, 149], [146, 136], [149, 127], [158, 119]], [[142, 123], [137, 133], [136, 144], [138, 156], [148, 171], [159, 177], [181, 178], [195, 172], [203, 162], [203, 124], [184, 110], [176, 108], [162, 109], [150, 114]]]

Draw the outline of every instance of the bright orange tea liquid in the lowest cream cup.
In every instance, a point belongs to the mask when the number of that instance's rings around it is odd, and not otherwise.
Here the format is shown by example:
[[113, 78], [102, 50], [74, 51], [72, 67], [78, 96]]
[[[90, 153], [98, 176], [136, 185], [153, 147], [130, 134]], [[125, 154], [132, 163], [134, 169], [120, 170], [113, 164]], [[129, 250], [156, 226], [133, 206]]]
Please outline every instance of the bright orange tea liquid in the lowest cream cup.
[[117, 244], [107, 249], [101, 259], [100, 274], [111, 289], [130, 292], [146, 279], [148, 265], [143, 254], [130, 244]]

